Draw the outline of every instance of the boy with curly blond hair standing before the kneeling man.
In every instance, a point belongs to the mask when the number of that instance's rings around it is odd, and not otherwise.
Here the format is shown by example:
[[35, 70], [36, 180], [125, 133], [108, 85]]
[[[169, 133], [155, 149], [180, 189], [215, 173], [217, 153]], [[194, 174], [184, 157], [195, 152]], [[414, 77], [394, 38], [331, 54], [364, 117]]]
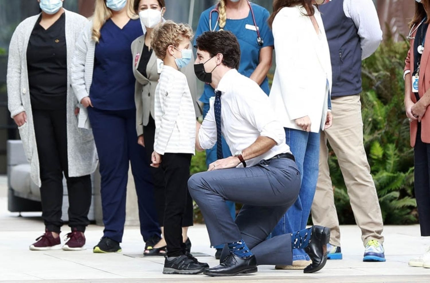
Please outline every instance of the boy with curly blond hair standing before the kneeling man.
[[187, 205], [187, 181], [195, 153], [196, 116], [186, 76], [179, 71], [190, 63], [193, 30], [187, 24], [166, 21], [154, 29], [151, 46], [164, 66], [155, 91], [153, 167], [165, 175], [164, 237], [167, 256], [164, 274], [198, 274], [200, 263], [182, 242], [182, 218]]

